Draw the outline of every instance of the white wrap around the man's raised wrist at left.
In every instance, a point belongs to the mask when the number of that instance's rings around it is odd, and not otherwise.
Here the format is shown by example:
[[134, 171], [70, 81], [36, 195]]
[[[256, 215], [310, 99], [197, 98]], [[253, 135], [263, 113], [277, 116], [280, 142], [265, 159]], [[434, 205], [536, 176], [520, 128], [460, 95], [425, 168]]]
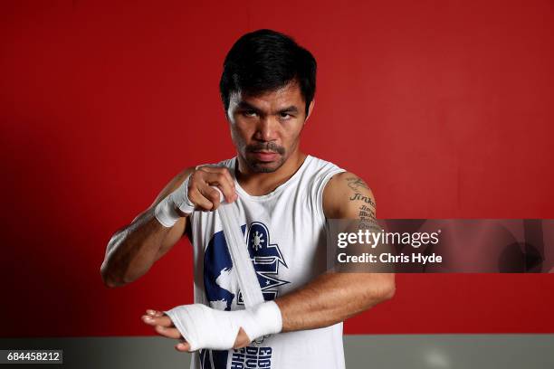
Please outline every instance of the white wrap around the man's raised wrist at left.
[[176, 209], [186, 214], [190, 214], [195, 210], [195, 204], [188, 199], [189, 178], [190, 175], [186, 177], [185, 182], [177, 190], [168, 194], [154, 209], [154, 216], [166, 228], [173, 227], [181, 217]]

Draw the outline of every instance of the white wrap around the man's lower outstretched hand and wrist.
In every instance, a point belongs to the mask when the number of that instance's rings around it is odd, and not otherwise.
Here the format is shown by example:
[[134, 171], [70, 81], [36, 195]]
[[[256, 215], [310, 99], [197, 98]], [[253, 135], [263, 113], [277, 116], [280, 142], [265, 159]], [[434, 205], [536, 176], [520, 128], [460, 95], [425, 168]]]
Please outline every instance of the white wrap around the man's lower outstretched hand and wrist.
[[243, 310], [224, 311], [192, 304], [173, 307], [164, 313], [186, 339], [190, 351], [231, 349], [241, 326], [251, 341], [282, 330], [281, 310], [272, 300]]

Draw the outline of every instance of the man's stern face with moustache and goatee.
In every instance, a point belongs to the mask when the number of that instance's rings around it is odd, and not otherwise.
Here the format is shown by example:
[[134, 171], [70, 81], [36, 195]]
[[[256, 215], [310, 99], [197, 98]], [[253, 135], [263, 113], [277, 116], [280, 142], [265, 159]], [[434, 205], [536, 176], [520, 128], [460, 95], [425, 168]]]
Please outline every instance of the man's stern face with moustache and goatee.
[[238, 155], [257, 173], [274, 172], [297, 152], [307, 119], [296, 83], [259, 96], [231, 94], [227, 118]]

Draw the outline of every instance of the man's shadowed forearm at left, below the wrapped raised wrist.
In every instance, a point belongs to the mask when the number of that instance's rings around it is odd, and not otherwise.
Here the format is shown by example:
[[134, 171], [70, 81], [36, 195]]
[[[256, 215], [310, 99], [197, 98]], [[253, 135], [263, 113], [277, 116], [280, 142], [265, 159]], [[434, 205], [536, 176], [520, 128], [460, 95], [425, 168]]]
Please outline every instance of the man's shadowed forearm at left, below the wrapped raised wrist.
[[149, 209], [116, 232], [100, 268], [106, 285], [121, 286], [144, 275], [157, 260], [168, 230], [158, 222], [154, 209]]

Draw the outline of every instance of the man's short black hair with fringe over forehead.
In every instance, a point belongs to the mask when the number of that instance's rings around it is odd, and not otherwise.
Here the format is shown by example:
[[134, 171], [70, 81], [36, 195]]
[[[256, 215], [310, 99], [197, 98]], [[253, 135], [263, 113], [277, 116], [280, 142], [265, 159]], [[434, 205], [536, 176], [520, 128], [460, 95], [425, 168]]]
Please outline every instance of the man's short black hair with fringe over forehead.
[[316, 70], [311, 52], [290, 36], [268, 29], [246, 33], [234, 43], [224, 60], [219, 90], [225, 115], [234, 92], [256, 96], [297, 80], [308, 116], [315, 95]]

